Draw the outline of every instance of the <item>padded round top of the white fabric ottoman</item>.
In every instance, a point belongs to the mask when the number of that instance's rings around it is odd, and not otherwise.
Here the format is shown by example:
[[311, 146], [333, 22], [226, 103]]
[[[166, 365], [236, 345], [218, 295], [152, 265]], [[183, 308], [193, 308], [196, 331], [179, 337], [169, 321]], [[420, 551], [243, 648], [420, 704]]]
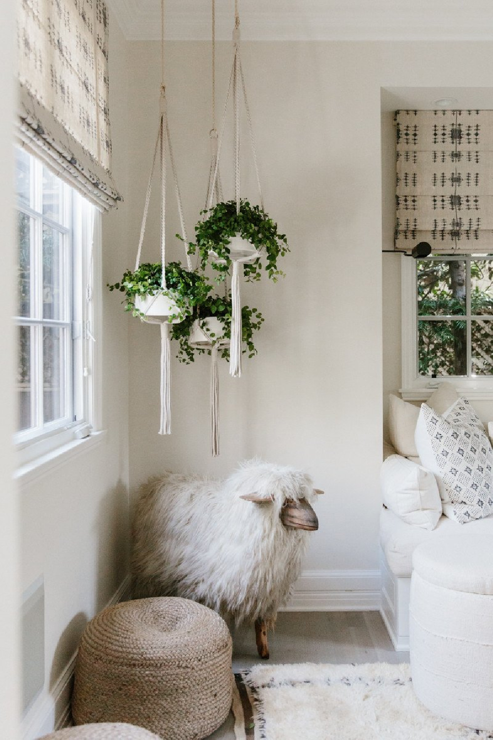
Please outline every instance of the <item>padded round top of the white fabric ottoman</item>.
[[492, 596], [493, 537], [470, 534], [468, 528], [465, 534], [430, 538], [415, 548], [412, 568], [435, 586]]

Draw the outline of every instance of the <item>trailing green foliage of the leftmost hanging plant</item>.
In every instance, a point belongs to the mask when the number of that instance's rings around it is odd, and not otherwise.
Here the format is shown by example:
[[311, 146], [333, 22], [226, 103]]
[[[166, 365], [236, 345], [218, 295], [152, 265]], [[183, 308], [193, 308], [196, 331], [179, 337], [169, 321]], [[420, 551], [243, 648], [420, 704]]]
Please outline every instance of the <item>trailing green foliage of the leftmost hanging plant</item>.
[[[144, 314], [135, 307], [135, 298], [161, 292], [162, 274], [161, 263], [146, 262], [134, 271], [126, 270], [118, 283], [113, 285], [108, 283], [108, 287], [110, 291], [118, 290], [125, 294], [122, 303], [126, 311], [131, 312], [133, 316], [143, 317]], [[166, 265], [165, 275], [166, 291], [163, 291], [164, 294], [177, 303], [180, 313], [185, 318], [191, 317], [195, 306], [203, 303], [208, 293], [211, 292], [212, 286], [204, 275], [199, 272], [189, 272], [181, 266], [180, 262], [170, 262]], [[170, 317], [170, 321], [173, 318]], [[174, 324], [173, 326], [179, 325]]]

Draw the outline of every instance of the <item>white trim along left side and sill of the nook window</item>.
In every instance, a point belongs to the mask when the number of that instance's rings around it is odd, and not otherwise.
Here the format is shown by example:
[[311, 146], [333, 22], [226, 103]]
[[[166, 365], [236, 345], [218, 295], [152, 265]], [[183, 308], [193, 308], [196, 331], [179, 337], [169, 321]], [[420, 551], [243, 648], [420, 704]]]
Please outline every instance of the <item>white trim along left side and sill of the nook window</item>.
[[469, 400], [493, 400], [493, 377], [447, 376], [430, 380], [418, 375], [418, 296], [415, 260], [401, 257], [402, 388], [407, 401], [427, 400], [440, 383], [453, 383]]

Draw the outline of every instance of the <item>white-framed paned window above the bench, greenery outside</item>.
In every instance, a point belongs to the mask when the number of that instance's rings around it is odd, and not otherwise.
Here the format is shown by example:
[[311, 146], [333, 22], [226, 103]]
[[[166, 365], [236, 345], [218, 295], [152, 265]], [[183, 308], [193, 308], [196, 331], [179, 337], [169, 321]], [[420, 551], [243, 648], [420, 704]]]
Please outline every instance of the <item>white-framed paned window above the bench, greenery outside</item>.
[[463, 391], [493, 391], [493, 256], [402, 265], [403, 394], [441, 378]]

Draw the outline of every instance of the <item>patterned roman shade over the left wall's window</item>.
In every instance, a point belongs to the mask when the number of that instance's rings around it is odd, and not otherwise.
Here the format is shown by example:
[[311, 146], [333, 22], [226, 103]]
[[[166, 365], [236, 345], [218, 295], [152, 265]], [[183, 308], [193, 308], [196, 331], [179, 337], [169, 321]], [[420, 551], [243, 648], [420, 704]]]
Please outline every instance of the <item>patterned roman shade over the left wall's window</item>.
[[20, 0], [18, 136], [102, 209], [110, 174], [108, 12], [103, 0]]

